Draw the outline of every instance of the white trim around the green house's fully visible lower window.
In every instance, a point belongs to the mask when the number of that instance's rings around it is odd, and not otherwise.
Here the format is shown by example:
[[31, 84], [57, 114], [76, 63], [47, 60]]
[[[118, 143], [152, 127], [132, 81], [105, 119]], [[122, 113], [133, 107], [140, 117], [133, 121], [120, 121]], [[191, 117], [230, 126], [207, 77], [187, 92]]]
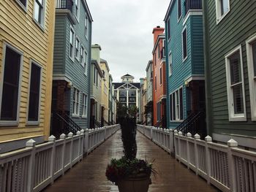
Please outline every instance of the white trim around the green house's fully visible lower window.
[[[241, 83], [243, 91], [243, 104], [244, 104], [244, 113], [243, 114], [234, 114], [233, 109], [233, 93], [230, 88], [230, 61], [229, 57], [239, 51], [240, 62], [241, 62]], [[231, 50], [225, 55], [225, 65], [226, 65], [226, 79], [227, 79], [227, 105], [228, 105], [228, 116], [230, 121], [246, 121], [246, 102], [245, 102], [245, 92], [244, 92], [244, 69], [243, 69], [243, 56], [242, 56], [242, 47], [238, 47]]]

